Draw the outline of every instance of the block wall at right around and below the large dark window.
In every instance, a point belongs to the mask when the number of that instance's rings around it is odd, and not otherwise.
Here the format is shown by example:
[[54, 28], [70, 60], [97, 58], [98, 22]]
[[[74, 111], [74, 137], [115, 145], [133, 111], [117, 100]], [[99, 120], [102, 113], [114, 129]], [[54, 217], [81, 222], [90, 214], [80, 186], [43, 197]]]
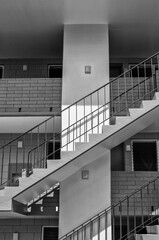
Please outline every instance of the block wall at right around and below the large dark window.
[[[132, 159], [132, 140], [155, 140], [158, 142], [159, 133], [158, 132], [141, 132], [133, 136], [131, 139], [128, 139], [124, 142], [124, 171], [112, 171], [111, 174], [111, 198], [112, 204], [119, 202], [125, 196], [131, 194], [138, 187], [144, 185], [149, 182], [156, 176], [159, 176], [159, 169], [157, 171], [133, 171], [133, 159]], [[126, 145], [130, 145], [130, 151], [126, 151]], [[158, 152], [158, 144], [157, 144], [157, 152]], [[158, 158], [158, 156], [157, 156]], [[157, 159], [158, 162], [158, 159]], [[158, 164], [159, 166], [159, 164]], [[143, 207], [145, 213], [149, 211], [151, 212], [151, 207], [158, 206], [158, 193], [159, 193], [159, 180], [156, 182], [156, 191], [154, 191], [154, 185], [152, 184], [149, 187], [149, 195], [147, 194], [147, 189], [143, 190]], [[133, 204], [134, 199], [131, 198], [130, 206]], [[141, 213], [141, 196], [140, 194], [136, 195], [135, 201], [136, 209], [138, 209], [138, 214]], [[123, 204], [123, 206], [125, 206]], [[124, 209], [124, 207], [123, 207]], [[119, 209], [118, 209], [119, 210]], [[123, 210], [124, 211], [124, 210]], [[130, 210], [131, 212], [131, 210]], [[117, 211], [119, 214], [119, 211]], [[126, 208], [125, 208], [126, 214]]]

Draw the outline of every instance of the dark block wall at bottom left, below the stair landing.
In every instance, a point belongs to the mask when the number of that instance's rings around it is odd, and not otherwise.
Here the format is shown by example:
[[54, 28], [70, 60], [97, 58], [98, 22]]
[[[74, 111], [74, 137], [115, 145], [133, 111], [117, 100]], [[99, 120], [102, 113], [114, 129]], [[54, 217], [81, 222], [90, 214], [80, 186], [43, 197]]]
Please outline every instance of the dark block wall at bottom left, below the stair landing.
[[13, 233], [18, 232], [18, 240], [42, 240], [43, 226], [58, 226], [58, 219], [0, 219], [0, 239], [13, 240]]

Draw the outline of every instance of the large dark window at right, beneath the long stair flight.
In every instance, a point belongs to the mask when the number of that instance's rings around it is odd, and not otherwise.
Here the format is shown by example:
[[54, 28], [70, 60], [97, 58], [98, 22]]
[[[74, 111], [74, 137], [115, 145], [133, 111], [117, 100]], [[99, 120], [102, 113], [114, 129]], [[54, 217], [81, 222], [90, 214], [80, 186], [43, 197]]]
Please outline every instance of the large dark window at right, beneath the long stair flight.
[[156, 141], [133, 141], [133, 170], [157, 171]]

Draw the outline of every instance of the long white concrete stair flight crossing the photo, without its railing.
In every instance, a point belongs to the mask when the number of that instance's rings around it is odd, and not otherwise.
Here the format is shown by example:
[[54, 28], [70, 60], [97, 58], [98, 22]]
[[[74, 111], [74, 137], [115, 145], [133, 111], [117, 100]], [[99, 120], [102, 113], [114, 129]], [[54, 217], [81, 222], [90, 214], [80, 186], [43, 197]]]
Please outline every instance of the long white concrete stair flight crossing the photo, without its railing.
[[117, 116], [114, 125], [103, 125], [101, 134], [90, 134], [89, 142], [76, 143], [75, 151], [62, 152], [60, 160], [48, 160], [47, 169], [34, 169], [30, 177], [19, 178], [18, 187], [0, 191], [0, 211], [12, 210], [12, 200], [27, 205], [45, 190], [60, 183], [83, 166], [154, 123], [159, 112], [159, 93], [141, 107], [129, 109], [129, 116]]

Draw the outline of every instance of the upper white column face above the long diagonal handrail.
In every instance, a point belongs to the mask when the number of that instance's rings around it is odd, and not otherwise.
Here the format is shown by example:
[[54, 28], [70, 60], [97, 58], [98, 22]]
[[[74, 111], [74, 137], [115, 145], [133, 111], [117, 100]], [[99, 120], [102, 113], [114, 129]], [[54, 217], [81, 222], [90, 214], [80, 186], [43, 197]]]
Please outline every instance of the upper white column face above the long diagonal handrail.
[[[91, 74], [84, 67], [92, 67]], [[62, 105], [70, 105], [109, 81], [107, 24], [64, 25]]]

